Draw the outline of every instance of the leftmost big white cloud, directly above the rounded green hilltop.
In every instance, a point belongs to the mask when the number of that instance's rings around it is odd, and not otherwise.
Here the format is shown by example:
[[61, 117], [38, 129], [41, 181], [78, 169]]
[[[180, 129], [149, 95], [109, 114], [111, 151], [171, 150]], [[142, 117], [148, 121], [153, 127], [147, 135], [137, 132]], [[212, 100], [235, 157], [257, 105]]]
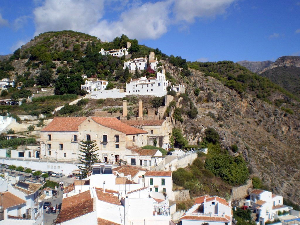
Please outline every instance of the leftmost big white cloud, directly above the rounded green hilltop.
[[46, 31], [89, 32], [103, 16], [104, 0], [46, 0], [35, 8], [35, 35]]

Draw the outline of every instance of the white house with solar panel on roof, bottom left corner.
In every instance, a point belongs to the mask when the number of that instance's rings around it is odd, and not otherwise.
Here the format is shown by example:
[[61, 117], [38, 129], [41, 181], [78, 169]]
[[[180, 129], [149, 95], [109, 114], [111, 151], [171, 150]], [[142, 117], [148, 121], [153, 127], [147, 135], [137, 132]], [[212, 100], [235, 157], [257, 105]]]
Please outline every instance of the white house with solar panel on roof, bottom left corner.
[[1, 180], [1, 190], [6, 188], [6, 191], [0, 192], [3, 210], [0, 224], [43, 225], [43, 206], [39, 199], [42, 184], [18, 179], [19, 177], [10, 182], [11, 178], [5, 179], [4, 175]]

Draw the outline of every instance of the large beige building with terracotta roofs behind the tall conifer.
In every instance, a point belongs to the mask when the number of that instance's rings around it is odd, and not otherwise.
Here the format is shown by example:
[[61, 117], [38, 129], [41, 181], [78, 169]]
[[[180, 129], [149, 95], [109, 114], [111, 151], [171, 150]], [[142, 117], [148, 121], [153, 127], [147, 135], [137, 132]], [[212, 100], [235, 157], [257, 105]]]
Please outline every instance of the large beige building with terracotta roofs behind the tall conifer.
[[125, 157], [126, 147], [144, 146], [147, 133], [111, 117], [54, 118], [41, 130], [41, 156], [73, 161], [78, 158], [80, 141], [91, 140], [102, 162], [117, 163]]

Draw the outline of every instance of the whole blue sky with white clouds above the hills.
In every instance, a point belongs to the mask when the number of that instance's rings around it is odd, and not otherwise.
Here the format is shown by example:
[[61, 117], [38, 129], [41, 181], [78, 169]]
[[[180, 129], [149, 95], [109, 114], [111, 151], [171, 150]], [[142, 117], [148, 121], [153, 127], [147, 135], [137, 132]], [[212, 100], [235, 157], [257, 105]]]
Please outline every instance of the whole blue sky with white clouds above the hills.
[[46, 31], [121, 34], [188, 61], [300, 55], [300, 0], [1, 0], [0, 55]]

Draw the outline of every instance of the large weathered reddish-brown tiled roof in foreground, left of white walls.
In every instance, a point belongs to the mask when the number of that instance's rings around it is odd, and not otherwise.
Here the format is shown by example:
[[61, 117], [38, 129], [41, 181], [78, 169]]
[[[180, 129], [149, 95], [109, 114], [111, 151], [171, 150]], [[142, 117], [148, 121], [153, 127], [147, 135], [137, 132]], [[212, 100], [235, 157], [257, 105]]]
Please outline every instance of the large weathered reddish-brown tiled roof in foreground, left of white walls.
[[91, 198], [90, 190], [64, 198], [62, 199], [61, 211], [57, 221], [58, 223], [62, 223], [88, 214], [94, 211], [93, 205], [94, 199]]

